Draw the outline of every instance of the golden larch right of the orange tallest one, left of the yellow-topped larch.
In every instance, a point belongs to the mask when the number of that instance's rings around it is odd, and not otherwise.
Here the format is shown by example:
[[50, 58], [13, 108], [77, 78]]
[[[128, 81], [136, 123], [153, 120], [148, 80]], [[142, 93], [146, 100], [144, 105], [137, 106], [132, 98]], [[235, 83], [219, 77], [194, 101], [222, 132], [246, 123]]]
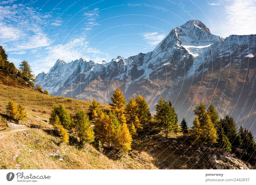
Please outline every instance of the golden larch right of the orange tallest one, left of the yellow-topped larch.
[[[141, 126], [138, 118], [138, 110], [138, 104], [132, 97], [125, 107], [126, 123], [130, 126], [130, 131], [131, 129], [133, 130], [132, 126], [134, 126], [136, 130], [139, 129]], [[136, 135], [136, 132], [132, 131], [132, 134]]]

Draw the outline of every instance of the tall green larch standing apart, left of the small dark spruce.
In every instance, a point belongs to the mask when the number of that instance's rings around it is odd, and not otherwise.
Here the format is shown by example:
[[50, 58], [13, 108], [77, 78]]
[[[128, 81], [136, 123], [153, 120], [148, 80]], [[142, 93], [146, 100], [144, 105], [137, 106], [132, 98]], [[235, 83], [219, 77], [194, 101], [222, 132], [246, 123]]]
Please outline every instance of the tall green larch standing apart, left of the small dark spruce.
[[165, 130], [165, 138], [168, 137], [168, 132], [173, 128], [176, 121], [176, 114], [172, 111], [172, 107], [169, 103], [160, 98], [158, 103], [155, 105], [156, 107], [156, 121], [159, 123], [159, 126]]

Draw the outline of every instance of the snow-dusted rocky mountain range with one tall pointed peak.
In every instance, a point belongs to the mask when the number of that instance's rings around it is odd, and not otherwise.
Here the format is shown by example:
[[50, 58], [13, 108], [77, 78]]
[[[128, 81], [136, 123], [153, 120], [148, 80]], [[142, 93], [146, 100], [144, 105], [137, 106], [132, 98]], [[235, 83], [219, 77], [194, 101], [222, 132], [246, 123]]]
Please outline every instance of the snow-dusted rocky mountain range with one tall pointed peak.
[[53, 96], [87, 101], [95, 97], [100, 103], [110, 102], [120, 88], [127, 100], [144, 96], [152, 112], [162, 96], [189, 126], [196, 105], [213, 103], [220, 116], [229, 114], [256, 135], [255, 44], [256, 35], [222, 38], [201, 21], [189, 20], [151, 52], [102, 63], [57, 60], [48, 73], [36, 76], [36, 84]]

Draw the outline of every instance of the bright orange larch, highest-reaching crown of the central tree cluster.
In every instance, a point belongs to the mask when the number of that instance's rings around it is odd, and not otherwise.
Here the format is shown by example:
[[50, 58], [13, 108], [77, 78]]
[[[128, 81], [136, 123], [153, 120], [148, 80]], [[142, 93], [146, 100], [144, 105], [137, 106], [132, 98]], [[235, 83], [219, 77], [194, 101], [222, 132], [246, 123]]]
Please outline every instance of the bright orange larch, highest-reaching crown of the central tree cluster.
[[124, 113], [126, 100], [123, 96], [123, 92], [119, 88], [116, 89], [116, 91], [113, 93], [111, 101], [112, 103], [109, 103], [109, 105], [116, 114], [117, 118], [120, 119], [121, 115]]

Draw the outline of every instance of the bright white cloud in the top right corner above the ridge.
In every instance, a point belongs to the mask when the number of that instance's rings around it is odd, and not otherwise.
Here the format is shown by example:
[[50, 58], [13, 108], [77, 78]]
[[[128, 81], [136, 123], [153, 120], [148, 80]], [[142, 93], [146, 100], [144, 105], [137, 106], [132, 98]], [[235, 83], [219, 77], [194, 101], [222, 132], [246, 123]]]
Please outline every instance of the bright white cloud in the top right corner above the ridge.
[[255, 34], [256, 1], [234, 0], [226, 6], [227, 17], [223, 25], [221, 36]]

